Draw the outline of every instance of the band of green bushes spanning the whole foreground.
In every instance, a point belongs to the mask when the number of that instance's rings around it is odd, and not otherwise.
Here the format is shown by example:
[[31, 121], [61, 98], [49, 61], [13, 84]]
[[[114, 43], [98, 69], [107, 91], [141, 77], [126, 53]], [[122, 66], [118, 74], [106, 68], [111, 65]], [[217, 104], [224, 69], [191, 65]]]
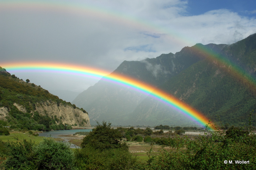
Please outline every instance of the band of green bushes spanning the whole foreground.
[[[161, 134], [154, 134], [149, 128], [113, 129], [110, 125], [104, 121], [98, 124], [84, 138], [82, 148], [76, 150], [52, 138], [44, 138], [39, 144], [28, 140], [0, 141], [0, 166], [2, 169], [256, 169], [256, 135], [252, 128], [230, 127], [227, 131], [206, 128], [204, 135], [194, 137], [163, 133], [166, 143], [158, 154], [151, 149], [141, 161], [129, 152], [124, 135], [133, 131], [133, 140], [142, 137], [145, 142]], [[237, 160], [247, 164], [236, 164]]]

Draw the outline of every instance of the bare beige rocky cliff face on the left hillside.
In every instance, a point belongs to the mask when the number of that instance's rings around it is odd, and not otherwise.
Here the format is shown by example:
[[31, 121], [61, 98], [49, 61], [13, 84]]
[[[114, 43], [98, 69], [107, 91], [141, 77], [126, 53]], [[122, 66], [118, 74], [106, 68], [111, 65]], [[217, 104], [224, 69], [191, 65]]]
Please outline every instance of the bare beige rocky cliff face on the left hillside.
[[[23, 107], [20, 104], [14, 103], [14, 106], [17, 107], [17, 109], [20, 112], [26, 113], [27, 110], [25, 107]], [[49, 102], [46, 101], [44, 103], [37, 103], [35, 105], [35, 110], [31, 113], [38, 112], [39, 115], [48, 115], [49, 117], [52, 117], [52, 119], [57, 120], [57, 123], [62, 122], [63, 124], [69, 124], [69, 125], [77, 125], [77, 126], [84, 126], [84, 127], [90, 127], [90, 119], [87, 112], [83, 112], [82, 110], [78, 108], [74, 108], [70, 105], [63, 105], [63, 104], [57, 104], [56, 102]], [[6, 116], [8, 116], [8, 109], [5, 107], [0, 108], [0, 119], [4, 119]]]

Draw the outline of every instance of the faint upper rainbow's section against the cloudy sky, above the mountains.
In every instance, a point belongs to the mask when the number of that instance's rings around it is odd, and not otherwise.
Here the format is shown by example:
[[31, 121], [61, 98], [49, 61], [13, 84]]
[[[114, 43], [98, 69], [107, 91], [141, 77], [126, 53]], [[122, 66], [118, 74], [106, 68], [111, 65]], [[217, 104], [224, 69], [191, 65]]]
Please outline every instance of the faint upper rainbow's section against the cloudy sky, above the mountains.
[[124, 14], [123, 12], [108, 10], [103, 7], [95, 6], [86, 2], [76, 1], [45, 1], [45, 0], [3, 0], [0, 2], [0, 10], [22, 10], [22, 11], [52, 11], [56, 13], [91, 16], [94, 18], [108, 20], [112, 23], [124, 25], [125, 27], [132, 27], [139, 32], [148, 32], [154, 34], [160, 34], [165, 36], [166, 39], [175, 42], [176, 44], [195, 44], [192, 40], [188, 40], [188, 37], [184, 37], [178, 31], [173, 29], [166, 29], [164, 27], [157, 26], [151, 22], [132, 17]]

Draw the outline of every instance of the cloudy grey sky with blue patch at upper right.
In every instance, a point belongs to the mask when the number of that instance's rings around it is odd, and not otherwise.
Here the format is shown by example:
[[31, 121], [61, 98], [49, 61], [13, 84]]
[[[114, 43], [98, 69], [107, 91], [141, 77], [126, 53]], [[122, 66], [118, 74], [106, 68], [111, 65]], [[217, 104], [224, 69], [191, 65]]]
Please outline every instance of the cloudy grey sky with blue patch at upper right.
[[[0, 66], [47, 61], [111, 73], [124, 60], [156, 58], [196, 43], [231, 44], [254, 33], [254, 0], [0, 0]], [[99, 81], [10, 73], [50, 92], [78, 93]]]

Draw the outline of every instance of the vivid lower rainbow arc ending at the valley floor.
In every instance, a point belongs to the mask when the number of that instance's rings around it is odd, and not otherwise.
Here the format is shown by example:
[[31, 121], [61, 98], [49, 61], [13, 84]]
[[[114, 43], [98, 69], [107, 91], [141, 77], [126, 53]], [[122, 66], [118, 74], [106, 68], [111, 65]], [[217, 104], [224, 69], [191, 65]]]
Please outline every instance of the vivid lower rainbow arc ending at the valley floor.
[[[1, 67], [7, 71], [22, 71], [22, 72], [56, 72], [56, 73], [69, 73], [75, 75], [83, 75], [86, 77], [95, 77], [110, 81], [116, 84], [135, 89], [141, 93], [148, 94], [151, 97], [158, 99], [164, 104], [182, 112], [188, 118], [195, 120], [199, 125], [205, 127], [209, 123], [209, 119], [202, 113], [196, 111], [188, 104], [176, 99], [172, 95], [157, 89], [145, 82], [136, 80], [117, 73], [108, 74], [108, 72], [96, 68], [84, 67], [79, 65], [63, 64], [63, 63], [47, 63], [47, 62], [19, 62], [19, 63], [1, 63]], [[108, 74], [108, 75], [107, 75]], [[208, 125], [209, 129], [215, 129], [211, 123]]]

